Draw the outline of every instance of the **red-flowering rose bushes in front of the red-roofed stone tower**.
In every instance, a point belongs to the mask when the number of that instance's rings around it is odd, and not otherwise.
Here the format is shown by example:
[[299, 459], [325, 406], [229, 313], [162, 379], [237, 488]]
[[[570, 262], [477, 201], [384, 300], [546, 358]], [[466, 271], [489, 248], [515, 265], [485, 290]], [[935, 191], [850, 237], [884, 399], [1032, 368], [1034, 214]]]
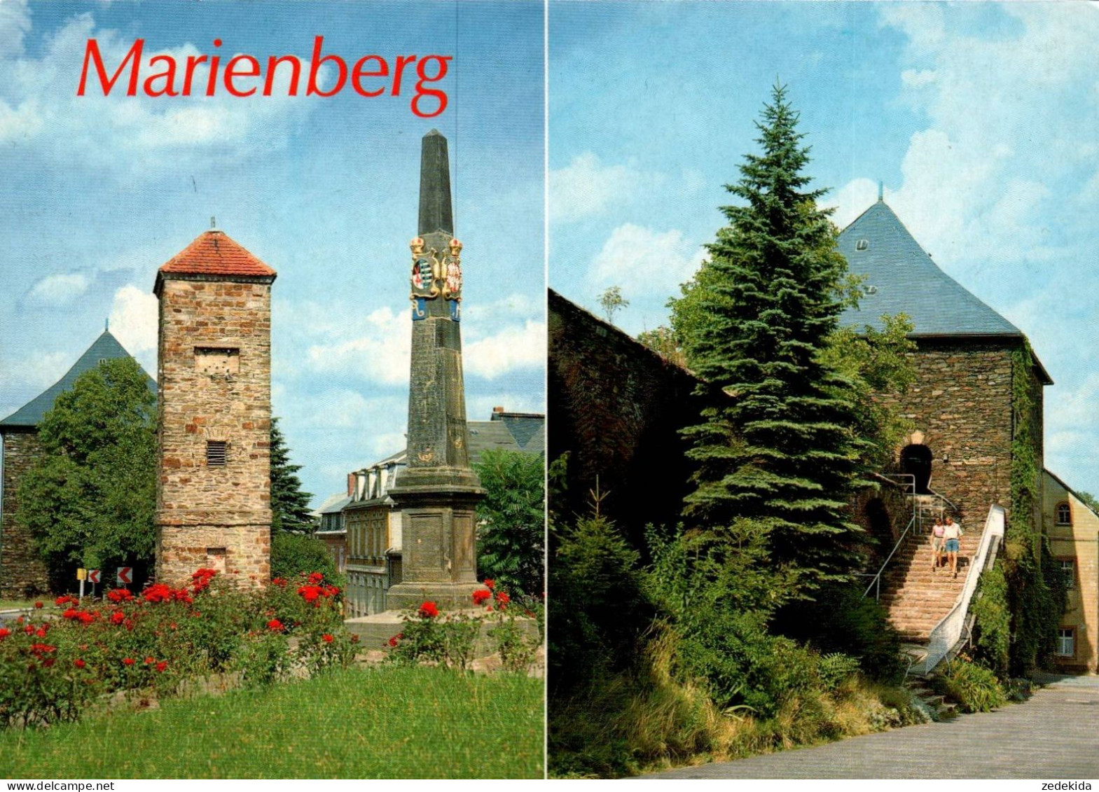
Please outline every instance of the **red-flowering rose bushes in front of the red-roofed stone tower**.
[[[180, 589], [119, 589], [84, 605], [57, 598], [56, 618], [0, 627], [0, 729], [77, 720], [119, 691], [170, 696], [186, 680], [225, 670], [269, 684], [293, 669], [348, 665], [356, 639], [343, 629], [340, 589], [319, 572], [300, 582], [242, 590], [198, 570]], [[299, 642], [292, 654], [289, 636]]]

